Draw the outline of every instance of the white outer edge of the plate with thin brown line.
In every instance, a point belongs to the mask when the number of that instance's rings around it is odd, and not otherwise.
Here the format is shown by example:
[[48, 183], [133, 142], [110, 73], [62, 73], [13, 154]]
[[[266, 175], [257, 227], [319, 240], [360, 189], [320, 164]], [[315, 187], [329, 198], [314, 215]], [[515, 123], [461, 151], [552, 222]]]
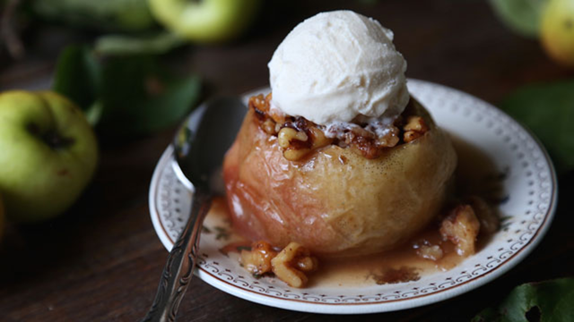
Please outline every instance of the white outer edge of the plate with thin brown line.
[[[497, 113], [498, 116], [506, 118], [505, 121], [509, 121], [510, 123], [514, 123], [514, 125], [519, 129], [524, 131], [531, 139], [533, 139], [536, 147], [542, 152], [542, 160], [544, 160], [545, 165], [548, 166], [549, 170], [549, 179], [552, 185], [550, 186], [550, 196], [549, 196], [549, 206], [548, 211], [544, 214], [544, 219], [536, 232], [526, 241], [521, 248], [516, 250], [513, 254], [510, 254], [509, 257], [503, 258], [503, 261], [500, 262], [494, 268], [487, 270], [484, 273], [478, 274], [473, 276], [470, 274], [470, 278], [468, 280], [460, 282], [458, 284], [452, 284], [451, 286], [444, 286], [440, 287], [437, 286], [433, 292], [429, 293], [422, 293], [418, 294], [417, 296], [406, 297], [402, 298], [399, 296], [398, 299], [394, 300], [383, 300], [383, 301], [371, 301], [368, 303], [361, 303], [360, 301], [355, 301], [351, 303], [327, 303], [327, 302], [310, 302], [308, 300], [298, 300], [298, 299], [290, 299], [288, 297], [280, 297], [274, 296], [273, 294], [263, 294], [261, 292], [256, 292], [255, 290], [250, 290], [247, 288], [241, 288], [236, 284], [232, 284], [229, 281], [226, 281], [225, 278], [220, 278], [212, 274], [209, 270], [205, 269], [202, 265], [205, 264], [205, 258], [200, 258], [200, 265], [197, 266], [195, 270], [196, 276], [204, 280], [208, 284], [215, 286], [216, 288], [223, 290], [226, 293], [230, 293], [234, 296], [238, 296], [242, 299], [253, 301], [258, 304], [269, 305], [272, 307], [284, 308], [284, 309], [292, 309], [294, 311], [303, 311], [303, 312], [314, 312], [314, 313], [338, 313], [338, 314], [356, 314], [356, 313], [375, 313], [375, 312], [387, 312], [387, 311], [396, 311], [399, 309], [406, 309], [406, 308], [413, 308], [419, 307], [422, 305], [432, 304], [439, 301], [450, 299], [451, 297], [458, 296], [462, 293], [466, 293], [471, 289], [478, 288], [488, 282], [498, 278], [508, 272], [510, 269], [514, 268], [519, 262], [521, 262], [528, 254], [532, 252], [534, 248], [541, 242], [542, 237], [544, 237], [546, 231], [552, 222], [554, 217], [554, 213], [556, 210], [557, 205], [557, 179], [556, 179], [556, 172], [554, 171], [554, 167], [552, 161], [548, 153], [546, 152], [544, 146], [538, 141], [536, 136], [533, 135], [532, 132], [529, 131], [528, 128], [523, 127], [519, 124], [516, 120], [512, 117], [507, 115], [505, 112], [495, 108], [491, 104], [487, 103], [486, 101], [480, 100], [474, 96], [471, 96], [468, 93], [464, 93], [457, 89], [453, 89], [450, 87], [446, 87], [444, 85], [430, 83], [428, 81], [421, 81], [421, 80], [414, 80], [409, 78], [409, 83], [418, 83], [419, 85], [426, 85], [440, 88], [443, 91], [448, 91], [452, 93], [456, 93], [457, 95], [467, 96], [472, 100], [480, 103], [486, 107], [489, 112]], [[264, 89], [263, 87], [262, 89]], [[256, 91], [261, 92], [262, 89], [257, 89]], [[252, 91], [250, 93], [253, 93]], [[248, 94], [244, 95], [247, 96]], [[165, 246], [166, 249], [171, 249], [173, 246], [173, 240], [169, 236], [168, 232], [166, 231], [165, 227], [162, 225], [160, 220], [160, 211], [157, 208], [156, 198], [157, 194], [159, 193], [159, 183], [160, 177], [162, 172], [166, 167], [170, 164], [170, 160], [172, 159], [173, 155], [173, 148], [168, 146], [164, 153], [162, 154], [152, 176], [152, 182], [150, 184], [149, 190], [149, 209], [150, 209], [150, 217], [152, 219], [152, 223], [154, 229], [158, 237], [160, 238], [162, 244]], [[460, 278], [460, 277], [459, 277]], [[247, 283], [247, 282], [246, 282]], [[247, 283], [248, 284], [248, 283]], [[443, 283], [445, 284], [445, 283]], [[443, 285], [441, 284], [441, 285]], [[280, 293], [280, 292], [279, 292]], [[280, 293], [281, 294], [281, 293]]]

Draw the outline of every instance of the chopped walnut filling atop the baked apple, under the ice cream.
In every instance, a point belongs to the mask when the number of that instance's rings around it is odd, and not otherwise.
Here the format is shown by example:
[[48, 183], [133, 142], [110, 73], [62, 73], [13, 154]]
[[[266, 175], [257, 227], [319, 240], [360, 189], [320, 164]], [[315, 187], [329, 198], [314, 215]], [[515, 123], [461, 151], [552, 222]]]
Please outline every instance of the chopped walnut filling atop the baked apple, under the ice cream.
[[367, 159], [376, 159], [385, 148], [412, 142], [429, 130], [422, 117], [407, 116], [406, 122], [404, 117], [399, 117], [382, 135], [370, 131], [367, 124], [357, 124], [344, 129], [342, 135], [329, 138], [325, 135], [323, 125], [317, 125], [304, 117], [287, 116], [270, 108], [271, 99], [271, 93], [267, 96], [252, 96], [249, 108], [255, 111], [263, 131], [277, 136], [283, 156], [290, 161], [300, 160], [309, 152], [330, 144], [350, 147]]

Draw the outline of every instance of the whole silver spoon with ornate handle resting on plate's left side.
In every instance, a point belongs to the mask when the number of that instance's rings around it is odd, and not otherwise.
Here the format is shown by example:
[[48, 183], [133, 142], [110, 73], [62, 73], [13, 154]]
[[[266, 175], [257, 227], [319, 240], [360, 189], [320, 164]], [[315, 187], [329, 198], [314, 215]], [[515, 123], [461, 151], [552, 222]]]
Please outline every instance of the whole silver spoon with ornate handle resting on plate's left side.
[[246, 111], [238, 97], [207, 101], [189, 115], [174, 138], [173, 170], [180, 182], [193, 192], [193, 200], [187, 224], [169, 252], [156, 299], [142, 322], [176, 319], [193, 276], [203, 219], [210, 209], [212, 196], [221, 192], [222, 179], [216, 175]]

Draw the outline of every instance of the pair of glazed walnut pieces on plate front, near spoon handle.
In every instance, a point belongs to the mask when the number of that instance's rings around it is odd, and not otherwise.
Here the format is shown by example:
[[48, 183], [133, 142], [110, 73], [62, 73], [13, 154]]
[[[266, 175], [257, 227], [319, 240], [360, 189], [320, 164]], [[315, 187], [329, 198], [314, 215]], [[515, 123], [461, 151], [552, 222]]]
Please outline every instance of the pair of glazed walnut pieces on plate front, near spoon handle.
[[319, 266], [316, 257], [296, 242], [290, 242], [281, 252], [276, 252], [265, 241], [254, 242], [251, 250], [241, 251], [241, 264], [254, 276], [273, 272], [290, 286], [301, 288], [307, 284], [306, 274]]

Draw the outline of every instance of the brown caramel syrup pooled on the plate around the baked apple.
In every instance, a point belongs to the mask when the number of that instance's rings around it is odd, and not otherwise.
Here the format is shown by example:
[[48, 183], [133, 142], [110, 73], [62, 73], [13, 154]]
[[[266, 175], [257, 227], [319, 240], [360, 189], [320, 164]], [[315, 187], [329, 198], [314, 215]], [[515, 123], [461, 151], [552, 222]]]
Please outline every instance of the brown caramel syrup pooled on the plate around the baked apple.
[[[457, 152], [458, 166], [453, 184], [455, 193], [445, 205], [443, 216], [448, 213], [449, 207], [470, 195], [483, 198], [494, 210], [494, 205], [504, 199], [501, 198], [503, 191], [500, 183], [505, 174], [501, 174], [490, 158], [479, 148], [452, 135], [451, 139]], [[206, 218], [205, 226], [208, 231], [219, 234], [222, 234], [221, 226], [226, 226], [227, 231], [223, 233], [223, 236], [227, 244], [220, 249], [220, 252], [226, 256], [238, 258], [236, 254], [241, 253], [242, 249], [249, 250], [251, 242], [232, 231], [231, 221], [228, 218], [226, 200], [223, 197], [216, 198]], [[319, 270], [309, 276], [308, 287], [394, 284], [416, 281], [425, 274], [454, 268], [465, 257], [457, 254], [452, 242], [445, 241], [441, 237], [440, 218], [441, 216], [397, 249], [361, 257], [320, 258]], [[480, 249], [487, 244], [490, 237], [488, 234], [479, 234], [476, 242], [477, 252], [480, 252]], [[435, 261], [418, 256], [416, 245], [423, 244], [439, 245], [443, 251], [443, 257]]]

